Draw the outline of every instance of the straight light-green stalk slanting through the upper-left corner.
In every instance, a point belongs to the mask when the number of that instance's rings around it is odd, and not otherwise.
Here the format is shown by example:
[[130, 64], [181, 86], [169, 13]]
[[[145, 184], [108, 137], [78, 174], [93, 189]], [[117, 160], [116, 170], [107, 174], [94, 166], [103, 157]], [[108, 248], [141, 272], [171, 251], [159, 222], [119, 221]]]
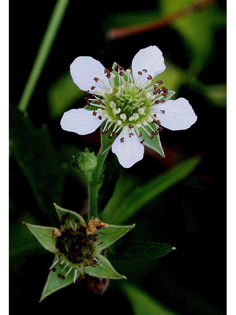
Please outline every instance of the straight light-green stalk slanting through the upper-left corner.
[[53, 14], [49, 21], [47, 30], [43, 36], [33, 67], [29, 74], [28, 81], [26, 83], [25, 89], [18, 105], [19, 110], [22, 112], [26, 111], [28, 108], [29, 101], [31, 99], [31, 96], [33, 95], [35, 86], [50, 54], [52, 45], [59, 31], [59, 26], [62, 22], [68, 3], [69, 0], [58, 0], [55, 5]]

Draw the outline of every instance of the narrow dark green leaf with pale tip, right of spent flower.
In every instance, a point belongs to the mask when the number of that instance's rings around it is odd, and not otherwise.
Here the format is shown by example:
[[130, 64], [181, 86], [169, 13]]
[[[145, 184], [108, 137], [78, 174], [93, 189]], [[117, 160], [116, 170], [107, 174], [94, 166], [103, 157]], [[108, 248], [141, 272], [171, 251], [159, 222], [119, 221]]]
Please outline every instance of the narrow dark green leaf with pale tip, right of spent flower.
[[116, 260], [157, 259], [174, 249], [175, 247], [172, 245], [157, 242], [128, 242], [112, 247], [112, 252], [109, 252], [109, 257]]

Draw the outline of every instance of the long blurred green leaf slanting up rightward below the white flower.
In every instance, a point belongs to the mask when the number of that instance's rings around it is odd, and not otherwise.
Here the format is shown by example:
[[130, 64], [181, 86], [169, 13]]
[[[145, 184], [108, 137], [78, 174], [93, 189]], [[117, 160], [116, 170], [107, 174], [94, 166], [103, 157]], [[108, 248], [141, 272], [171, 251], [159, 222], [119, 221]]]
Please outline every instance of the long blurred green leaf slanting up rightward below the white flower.
[[187, 177], [200, 161], [201, 157], [184, 160], [164, 174], [129, 191], [124, 190], [122, 183], [118, 182], [113, 197], [101, 214], [102, 221], [113, 224], [122, 224], [127, 221], [158, 194]]

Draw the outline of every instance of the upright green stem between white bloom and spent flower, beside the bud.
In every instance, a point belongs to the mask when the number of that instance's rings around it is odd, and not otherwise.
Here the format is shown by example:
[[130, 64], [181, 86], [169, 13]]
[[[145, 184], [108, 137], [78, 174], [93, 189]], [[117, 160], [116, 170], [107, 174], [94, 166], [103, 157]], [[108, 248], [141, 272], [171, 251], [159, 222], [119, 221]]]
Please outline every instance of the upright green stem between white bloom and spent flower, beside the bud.
[[93, 218], [98, 218], [98, 191], [102, 186], [102, 168], [104, 161], [108, 155], [109, 150], [104, 154], [100, 151], [97, 155], [97, 166], [93, 171], [93, 181], [88, 182], [88, 193], [89, 193], [89, 220]]

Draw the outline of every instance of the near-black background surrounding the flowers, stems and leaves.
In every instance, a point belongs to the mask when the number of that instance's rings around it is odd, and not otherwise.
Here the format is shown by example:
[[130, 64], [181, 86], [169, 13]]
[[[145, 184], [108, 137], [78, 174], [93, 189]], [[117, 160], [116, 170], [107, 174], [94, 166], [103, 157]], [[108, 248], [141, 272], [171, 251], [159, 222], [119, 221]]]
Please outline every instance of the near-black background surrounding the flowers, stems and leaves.
[[[51, 0], [10, 3], [10, 102], [13, 106], [17, 106], [20, 101], [54, 5], [55, 1]], [[61, 76], [63, 79], [70, 63], [78, 56], [91, 56], [105, 67], [111, 67], [114, 61], [128, 67], [134, 55], [149, 45], [161, 49], [170, 68], [174, 65], [187, 72], [194, 60], [194, 50], [191, 50], [191, 45], [184, 39], [183, 33], [178, 32], [175, 24], [114, 41], [106, 39], [105, 34], [110, 25], [114, 27], [122, 22], [119, 13], [123, 16], [137, 11], [145, 17], [152, 10], [158, 12], [160, 7], [160, 1], [152, 0], [142, 3], [82, 3], [71, 0], [68, 5], [28, 107], [33, 126], [36, 129], [42, 126], [48, 128], [53, 148], [58, 154], [57, 159], [62, 168], [65, 168], [60, 196], [60, 206], [64, 208], [79, 211], [85, 205], [85, 185], [71, 167], [71, 156], [79, 148], [87, 146], [98, 151], [99, 130], [88, 136], [78, 136], [62, 130], [59, 125], [62, 114], [60, 117], [60, 114], [54, 114], [53, 108], [56, 105], [50, 98], [50, 93], [53, 89], [57, 90], [58, 79]], [[199, 63], [201, 69], [196, 74], [198, 84], [196, 81], [188, 84], [180, 80], [175, 95], [175, 98], [184, 97], [189, 100], [198, 116], [197, 122], [184, 131], [162, 131], [165, 159], [146, 150], [142, 161], [124, 170], [125, 175], [133, 176], [134, 181], [140, 183], [168, 170], [184, 158], [203, 156], [191, 175], [148, 203], [127, 222], [136, 223], [136, 227], [125, 236], [127, 241], [168, 243], [177, 250], [158, 260], [112, 261], [115, 269], [124, 274], [130, 283], [139, 285], [181, 315], [223, 315], [226, 309], [226, 93], [222, 90], [226, 82], [226, 29], [225, 24], [219, 26], [217, 22], [226, 14], [226, 4], [225, 1], [217, 1], [203, 11], [208, 12], [206, 10], [209, 8], [209, 20], [215, 20], [216, 23], [205, 30], [210, 34], [212, 48], [208, 56], [203, 57], [205, 60]], [[201, 12], [194, 14], [202, 14]], [[218, 12], [221, 12], [220, 17]], [[191, 73], [189, 75], [191, 77]], [[162, 79], [162, 76], [159, 78]], [[165, 82], [168, 87], [168, 82]], [[212, 91], [212, 86], [217, 86], [219, 95], [216, 95], [219, 100], [207, 98], [206, 91]], [[84, 98], [78, 96], [65, 110], [83, 106]], [[25, 142], [28, 141], [26, 137]], [[25, 164], [20, 163], [18, 153], [14, 152], [14, 142], [10, 149], [11, 311], [17, 307], [18, 312], [24, 311], [25, 314], [136, 314], [120, 290], [119, 281], [111, 281], [102, 296], [91, 295], [85, 284], [78, 284], [53, 293], [38, 304], [53, 255], [37, 246], [22, 221], [54, 226], [56, 217], [52, 203], [49, 202], [50, 196], [46, 198], [48, 210], [42, 209], [37, 202], [35, 187], [31, 185]], [[111, 153], [108, 158], [112, 158]], [[29, 163], [34, 169], [40, 167], [37, 160], [30, 160]]]

